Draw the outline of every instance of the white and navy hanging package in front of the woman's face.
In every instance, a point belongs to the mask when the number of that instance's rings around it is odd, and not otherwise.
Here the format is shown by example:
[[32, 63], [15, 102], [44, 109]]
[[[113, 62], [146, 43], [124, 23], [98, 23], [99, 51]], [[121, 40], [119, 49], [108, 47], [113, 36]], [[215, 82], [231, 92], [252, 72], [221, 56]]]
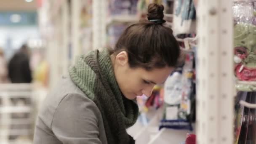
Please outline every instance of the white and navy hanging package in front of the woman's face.
[[[182, 71], [175, 71], [164, 86], [164, 116], [160, 128], [188, 129], [191, 125], [191, 101], [195, 99], [194, 53], [187, 53]], [[195, 115], [195, 112], [192, 112]]]

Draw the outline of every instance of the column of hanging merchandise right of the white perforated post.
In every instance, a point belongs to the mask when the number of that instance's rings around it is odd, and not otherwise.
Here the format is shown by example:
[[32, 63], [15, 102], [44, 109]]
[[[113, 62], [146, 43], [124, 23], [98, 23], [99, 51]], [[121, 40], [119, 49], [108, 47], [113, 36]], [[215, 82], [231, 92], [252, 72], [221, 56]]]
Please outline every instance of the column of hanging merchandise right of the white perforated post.
[[[234, 63], [238, 92], [235, 103], [235, 144], [255, 144], [255, 109], [239, 103], [256, 103], [256, 1], [234, 1]], [[243, 91], [243, 92], [241, 92]]]

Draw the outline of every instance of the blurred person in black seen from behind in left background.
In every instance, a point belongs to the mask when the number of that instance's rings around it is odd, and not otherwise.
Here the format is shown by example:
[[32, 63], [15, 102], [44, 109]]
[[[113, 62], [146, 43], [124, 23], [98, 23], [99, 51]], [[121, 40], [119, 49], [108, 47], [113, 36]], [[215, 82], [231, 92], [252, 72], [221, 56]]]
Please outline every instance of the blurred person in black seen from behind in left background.
[[26, 44], [11, 58], [8, 64], [11, 83], [31, 83], [32, 74], [29, 67], [29, 48]]

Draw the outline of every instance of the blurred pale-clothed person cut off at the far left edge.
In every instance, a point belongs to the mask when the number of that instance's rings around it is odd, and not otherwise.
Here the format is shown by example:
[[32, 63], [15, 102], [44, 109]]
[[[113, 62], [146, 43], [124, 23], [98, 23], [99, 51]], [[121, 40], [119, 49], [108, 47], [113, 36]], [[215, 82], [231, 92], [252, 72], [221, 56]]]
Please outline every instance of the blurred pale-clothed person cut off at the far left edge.
[[0, 83], [7, 83], [7, 67], [3, 49], [0, 48]]

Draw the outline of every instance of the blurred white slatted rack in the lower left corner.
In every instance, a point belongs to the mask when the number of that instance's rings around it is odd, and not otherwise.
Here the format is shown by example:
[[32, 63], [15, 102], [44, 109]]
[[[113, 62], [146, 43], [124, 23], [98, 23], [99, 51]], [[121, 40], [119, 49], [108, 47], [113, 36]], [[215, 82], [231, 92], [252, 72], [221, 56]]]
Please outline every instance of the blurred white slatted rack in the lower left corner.
[[[35, 115], [36, 101], [32, 85], [0, 84], [0, 100], [0, 144], [9, 144], [10, 136], [31, 137], [35, 123], [32, 119]], [[23, 101], [24, 104], [14, 104], [15, 101]]]

